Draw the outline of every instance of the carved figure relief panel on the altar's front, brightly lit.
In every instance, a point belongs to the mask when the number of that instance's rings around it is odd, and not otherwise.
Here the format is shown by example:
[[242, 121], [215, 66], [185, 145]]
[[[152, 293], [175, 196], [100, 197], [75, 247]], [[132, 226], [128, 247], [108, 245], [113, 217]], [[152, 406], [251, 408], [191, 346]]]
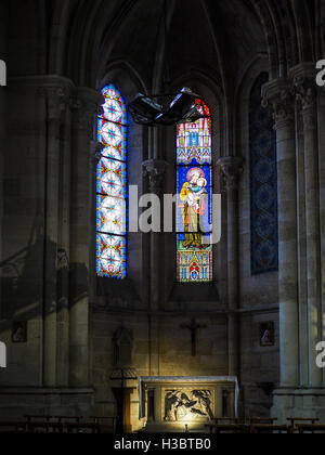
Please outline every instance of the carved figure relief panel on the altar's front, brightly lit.
[[164, 421], [211, 420], [214, 414], [214, 390], [193, 388], [164, 389]]

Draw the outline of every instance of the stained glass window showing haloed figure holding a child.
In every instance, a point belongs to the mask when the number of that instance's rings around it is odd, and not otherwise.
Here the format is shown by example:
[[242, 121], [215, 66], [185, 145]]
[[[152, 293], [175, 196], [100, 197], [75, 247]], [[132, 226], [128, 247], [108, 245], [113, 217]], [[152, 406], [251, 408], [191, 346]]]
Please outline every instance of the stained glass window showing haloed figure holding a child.
[[208, 106], [200, 100], [197, 104], [207, 118], [179, 125], [177, 131], [177, 265], [181, 283], [212, 281], [211, 118]]

